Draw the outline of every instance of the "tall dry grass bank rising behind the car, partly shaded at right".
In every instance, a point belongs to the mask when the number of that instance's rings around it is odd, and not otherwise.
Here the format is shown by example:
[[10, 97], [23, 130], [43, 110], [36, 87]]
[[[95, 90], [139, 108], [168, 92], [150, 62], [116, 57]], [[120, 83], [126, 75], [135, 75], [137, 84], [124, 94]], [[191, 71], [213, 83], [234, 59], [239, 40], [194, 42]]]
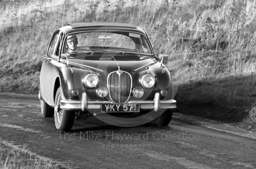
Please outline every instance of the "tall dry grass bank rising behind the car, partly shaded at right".
[[145, 28], [156, 54], [169, 55], [180, 111], [210, 106], [218, 114], [211, 118], [256, 121], [254, 0], [3, 0], [0, 8], [1, 92], [37, 92], [42, 58], [64, 11], [63, 25]]

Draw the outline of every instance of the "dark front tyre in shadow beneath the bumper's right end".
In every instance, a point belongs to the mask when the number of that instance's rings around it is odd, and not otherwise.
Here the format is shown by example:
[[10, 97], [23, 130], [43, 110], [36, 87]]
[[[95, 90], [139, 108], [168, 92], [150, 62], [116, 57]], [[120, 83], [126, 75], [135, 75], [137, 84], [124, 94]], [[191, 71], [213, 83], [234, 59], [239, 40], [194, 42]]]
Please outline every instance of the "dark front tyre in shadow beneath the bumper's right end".
[[161, 113], [161, 111], [154, 113], [152, 116], [153, 122], [157, 126], [167, 126], [172, 120], [173, 111], [165, 110], [162, 114]]

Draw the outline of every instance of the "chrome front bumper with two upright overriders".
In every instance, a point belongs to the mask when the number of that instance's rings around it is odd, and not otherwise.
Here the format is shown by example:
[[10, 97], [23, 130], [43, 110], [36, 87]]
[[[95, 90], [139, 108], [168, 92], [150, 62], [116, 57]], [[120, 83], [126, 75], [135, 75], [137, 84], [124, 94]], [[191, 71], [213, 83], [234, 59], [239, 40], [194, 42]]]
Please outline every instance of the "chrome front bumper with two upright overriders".
[[[61, 100], [60, 109], [63, 110], [100, 110], [101, 103], [115, 104], [112, 101], [91, 101], [88, 95], [84, 92], [82, 99], [80, 100]], [[152, 110], [158, 111], [160, 109], [175, 109], [176, 101], [160, 100], [160, 94], [156, 93], [154, 100], [145, 101], [129, 101], [127, 104], [140, 103], [140, 110]]]

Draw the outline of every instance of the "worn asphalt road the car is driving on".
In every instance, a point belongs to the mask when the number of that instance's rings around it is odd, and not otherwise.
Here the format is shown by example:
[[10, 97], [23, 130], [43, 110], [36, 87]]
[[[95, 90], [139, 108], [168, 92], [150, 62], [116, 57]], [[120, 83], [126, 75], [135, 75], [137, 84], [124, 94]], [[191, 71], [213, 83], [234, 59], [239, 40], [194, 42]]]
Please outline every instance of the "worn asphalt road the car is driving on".
[[0, 142], [63, 168], [256, 168], [256, 134], [228, 124], [174, 113], [168, 126], [122, 128], [90, 117], [60, 133], [36, 95], [0, 93]]

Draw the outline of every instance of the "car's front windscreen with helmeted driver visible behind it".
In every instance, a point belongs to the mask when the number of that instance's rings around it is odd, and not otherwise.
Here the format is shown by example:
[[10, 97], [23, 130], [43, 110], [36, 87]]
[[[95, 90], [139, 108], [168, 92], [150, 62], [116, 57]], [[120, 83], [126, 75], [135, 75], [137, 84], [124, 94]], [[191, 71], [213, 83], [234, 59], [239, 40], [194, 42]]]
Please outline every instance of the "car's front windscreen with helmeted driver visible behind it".
[[70, 34], [66, 37], [64, 53], [124, 52], [153, 55], [148, 39], [134, 32], [94, 31]]

